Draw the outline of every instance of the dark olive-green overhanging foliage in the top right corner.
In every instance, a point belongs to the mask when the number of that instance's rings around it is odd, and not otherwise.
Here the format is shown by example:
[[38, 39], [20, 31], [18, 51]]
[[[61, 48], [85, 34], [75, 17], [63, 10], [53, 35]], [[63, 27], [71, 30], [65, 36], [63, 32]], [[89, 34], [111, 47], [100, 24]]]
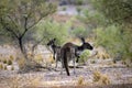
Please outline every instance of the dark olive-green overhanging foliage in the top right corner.
[[91, 0], [110, 22], [132, 23], [132, 0]]

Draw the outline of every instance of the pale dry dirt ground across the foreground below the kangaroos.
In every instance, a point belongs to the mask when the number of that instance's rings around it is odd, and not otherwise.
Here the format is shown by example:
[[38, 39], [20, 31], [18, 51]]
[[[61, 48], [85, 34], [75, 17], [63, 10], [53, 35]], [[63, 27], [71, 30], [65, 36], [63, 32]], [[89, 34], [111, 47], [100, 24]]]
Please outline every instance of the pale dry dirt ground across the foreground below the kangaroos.
[[[67, 76], [65, 72], [61, 75], [59, 69], [58, 67], [57, 70], [43, 69], [28, 74], [0, 70], [0, 88], [132, 88], [132, 68], [121, 64], [89, 64], [76, 68], [76, 74], [73, 68], [69, 68], [70, 76]], [[95, 72], [106, 75], [109, 79], [105, 81], [110, 82], [94, 81]], [[18, 87], [12, 87], [14, 85]]]

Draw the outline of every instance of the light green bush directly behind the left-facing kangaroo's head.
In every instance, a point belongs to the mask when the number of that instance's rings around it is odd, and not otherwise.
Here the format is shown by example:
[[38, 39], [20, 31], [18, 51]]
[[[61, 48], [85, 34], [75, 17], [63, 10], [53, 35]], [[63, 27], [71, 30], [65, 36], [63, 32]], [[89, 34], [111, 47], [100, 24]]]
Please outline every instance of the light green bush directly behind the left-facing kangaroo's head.
[[51, 38], [56, 38], [56, 44], [63, 45], [68, 37], [69, 24], [46, 20], [37, 24], [36, 29], [40, 31], [37, 31], [36, 35], [34, 36], [37, 36], [38, 38], [44, 37], [43, 43], [47, 43], [47, 41]]

